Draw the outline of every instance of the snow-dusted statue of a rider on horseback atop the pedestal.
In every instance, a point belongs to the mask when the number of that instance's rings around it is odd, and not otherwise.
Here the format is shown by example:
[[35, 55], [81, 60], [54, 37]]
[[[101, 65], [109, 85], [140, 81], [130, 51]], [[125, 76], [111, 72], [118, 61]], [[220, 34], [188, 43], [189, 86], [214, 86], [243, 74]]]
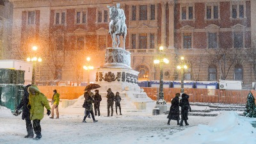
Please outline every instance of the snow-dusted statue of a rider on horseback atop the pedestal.
[[109, 33], [112, 38], [112, 47], [119, 47], [120, 36], [123, 36], [124, 49], [125, 49], [125, 37], [127, 35], [127, 26], [125, 24], [124, 10], [120, 8], [120, 3], [116, 3], [115, 6], [107, 6], [109, 8]]

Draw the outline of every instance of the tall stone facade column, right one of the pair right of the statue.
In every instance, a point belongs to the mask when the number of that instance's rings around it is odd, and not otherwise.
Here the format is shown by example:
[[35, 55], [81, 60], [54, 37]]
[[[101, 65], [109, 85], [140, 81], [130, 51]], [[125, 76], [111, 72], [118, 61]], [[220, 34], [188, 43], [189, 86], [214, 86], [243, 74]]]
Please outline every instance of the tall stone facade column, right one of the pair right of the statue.
[[169, 48], [174, 48], [174, 2], [168, 3], [169, 6]]

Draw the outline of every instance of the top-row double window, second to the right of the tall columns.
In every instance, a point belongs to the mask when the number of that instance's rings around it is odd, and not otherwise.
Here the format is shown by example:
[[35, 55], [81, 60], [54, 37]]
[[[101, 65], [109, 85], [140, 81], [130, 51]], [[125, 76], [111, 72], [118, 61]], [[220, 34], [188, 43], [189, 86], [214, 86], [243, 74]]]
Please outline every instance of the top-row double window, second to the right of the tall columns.
[[205, 19], [218, 19], [219, 8], [217, 3], [207, 3]]

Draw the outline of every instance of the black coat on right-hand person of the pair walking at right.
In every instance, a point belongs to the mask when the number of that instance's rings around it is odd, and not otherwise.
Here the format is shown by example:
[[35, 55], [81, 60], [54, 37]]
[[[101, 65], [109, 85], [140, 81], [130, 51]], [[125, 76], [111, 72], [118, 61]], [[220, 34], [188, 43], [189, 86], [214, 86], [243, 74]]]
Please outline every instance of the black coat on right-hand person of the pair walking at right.
[[180, 99], [180, 107], [181, 107], [181, 119], [183, 118], [184, 120], [188, 120], [188, 110], [191, 110], [190, 105], [189, 105], [189, 95], [186, 93], [183, 93], [184, 97]]

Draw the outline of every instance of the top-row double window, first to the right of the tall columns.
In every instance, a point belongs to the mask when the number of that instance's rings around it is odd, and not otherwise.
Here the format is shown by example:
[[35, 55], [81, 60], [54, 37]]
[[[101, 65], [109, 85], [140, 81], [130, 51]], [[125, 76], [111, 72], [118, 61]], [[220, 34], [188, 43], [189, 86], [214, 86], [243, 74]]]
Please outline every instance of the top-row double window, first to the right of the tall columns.
[[[184, 4], [182, 4], [184, 5]], [[180, 19], [181, 20], [193, 20], [195, 15], [194, 15], [194, 6], [189, 5], [184, 5], [180, 7]]]

